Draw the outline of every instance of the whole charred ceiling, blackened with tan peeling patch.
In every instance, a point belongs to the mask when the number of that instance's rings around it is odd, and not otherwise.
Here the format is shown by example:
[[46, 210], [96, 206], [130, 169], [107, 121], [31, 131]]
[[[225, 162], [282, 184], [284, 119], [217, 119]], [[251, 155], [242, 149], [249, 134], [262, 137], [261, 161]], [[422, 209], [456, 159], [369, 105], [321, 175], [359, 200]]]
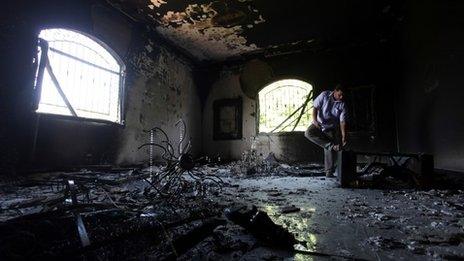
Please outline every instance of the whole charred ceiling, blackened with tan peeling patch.
[[[385, 41], [399, 1], [107, 0], [199, 62]], [[336, 8], [335, 8], [336, 7]]]

